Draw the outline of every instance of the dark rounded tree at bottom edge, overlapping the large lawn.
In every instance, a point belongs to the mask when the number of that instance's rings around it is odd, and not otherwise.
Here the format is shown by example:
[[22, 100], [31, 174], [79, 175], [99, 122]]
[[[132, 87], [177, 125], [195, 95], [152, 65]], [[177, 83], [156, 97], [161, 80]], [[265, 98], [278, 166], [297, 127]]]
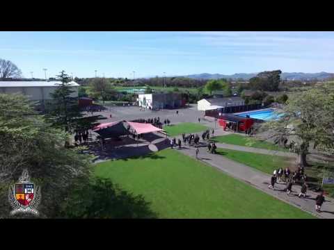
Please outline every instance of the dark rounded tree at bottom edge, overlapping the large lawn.
[[157, 213], [142, 195], [122, 190], [106, 178], [74, 188], [62, 217], [72, 219], [154, 219]]

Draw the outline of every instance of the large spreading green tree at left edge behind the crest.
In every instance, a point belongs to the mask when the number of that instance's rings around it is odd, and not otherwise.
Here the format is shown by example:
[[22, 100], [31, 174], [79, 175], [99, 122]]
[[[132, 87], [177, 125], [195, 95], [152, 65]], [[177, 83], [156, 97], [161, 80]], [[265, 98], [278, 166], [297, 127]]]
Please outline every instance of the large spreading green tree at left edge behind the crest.
[[0, 218], [9, 216], [8, 186], [23, 169], [42, 190], [41, 216], [58, 217], [70, 187], [90, 175], [91, 158], [65, 148], [67, 137], [35, 113], [24, 95], [0, 94]]

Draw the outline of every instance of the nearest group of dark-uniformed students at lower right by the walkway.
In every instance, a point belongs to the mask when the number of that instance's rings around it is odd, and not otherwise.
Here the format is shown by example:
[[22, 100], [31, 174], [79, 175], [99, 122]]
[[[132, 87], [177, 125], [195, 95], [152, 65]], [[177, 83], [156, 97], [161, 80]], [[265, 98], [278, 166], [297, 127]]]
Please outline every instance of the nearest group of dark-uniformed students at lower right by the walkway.
[[[283, 176], [285, 179], [283, 180]], [[281, 182], [282, 180], [287, 183], [283, 191], [287, 192], [287, 195], [289, 195], [292, 192], [292, 186], [296, 183], [296, 181], [302, 181], [301, 184], [301, 192], [299, 192], [298, 197], [305, 198], [306, 192], [308, 191], [308, 184], [306, 183], [306, 174], [304, 174], [303, 167], [298, 167], [296, 172], [290, 172], [289, 168], [285, 168], [284, 170], [282, 168], [278, 170], [274, 170], [273, 175], [270, 179], [270, 185], [268, 188], [271, 188], [272, 190], [275, 190], [275, 184], [278, 182]], [[321, 212], [321, 206], [324, 203], [324, 191], [321, 190], [320, 194], [317, 195], [315, 198], [315, 210], [319, 213]]]

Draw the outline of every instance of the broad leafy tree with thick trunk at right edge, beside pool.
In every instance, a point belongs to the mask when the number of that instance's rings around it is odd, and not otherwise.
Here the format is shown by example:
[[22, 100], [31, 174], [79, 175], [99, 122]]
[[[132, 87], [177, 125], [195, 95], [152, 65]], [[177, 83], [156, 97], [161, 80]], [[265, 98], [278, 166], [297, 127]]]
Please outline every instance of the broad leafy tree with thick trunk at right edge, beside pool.
[[271, 137], [296, 140], [299, 164], [306, 166], [310, 144], [323, 152], [334, 150], [334, 84], [294, 94], [279, 112], [281, 117], [263, 124]]

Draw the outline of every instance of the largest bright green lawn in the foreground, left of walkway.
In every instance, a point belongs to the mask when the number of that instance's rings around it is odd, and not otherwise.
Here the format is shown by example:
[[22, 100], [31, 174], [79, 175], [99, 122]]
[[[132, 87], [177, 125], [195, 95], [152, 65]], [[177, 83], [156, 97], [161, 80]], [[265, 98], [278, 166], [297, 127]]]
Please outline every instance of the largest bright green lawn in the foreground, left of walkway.
[[99, 163], [95, 174], [142, 194], [160, 218], [313, 218], [172, 149]]

